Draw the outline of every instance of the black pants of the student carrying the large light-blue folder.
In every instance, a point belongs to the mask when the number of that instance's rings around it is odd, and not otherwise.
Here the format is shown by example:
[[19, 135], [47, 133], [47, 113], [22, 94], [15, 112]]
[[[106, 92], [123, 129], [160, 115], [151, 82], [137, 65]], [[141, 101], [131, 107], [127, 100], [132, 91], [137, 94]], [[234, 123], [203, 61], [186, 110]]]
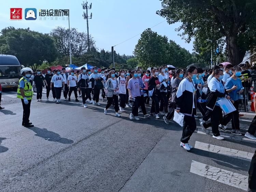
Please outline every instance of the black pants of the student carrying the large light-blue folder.
[[214, 136], [220, 136], [219, 134], [219, 123], [222, 122], [222, 109], [221, 107], [215, 105], [212, 113], [211, 113], [211, 122], [203, 123], [204, 127], [207, 129], [212, 126], [212, 133]]

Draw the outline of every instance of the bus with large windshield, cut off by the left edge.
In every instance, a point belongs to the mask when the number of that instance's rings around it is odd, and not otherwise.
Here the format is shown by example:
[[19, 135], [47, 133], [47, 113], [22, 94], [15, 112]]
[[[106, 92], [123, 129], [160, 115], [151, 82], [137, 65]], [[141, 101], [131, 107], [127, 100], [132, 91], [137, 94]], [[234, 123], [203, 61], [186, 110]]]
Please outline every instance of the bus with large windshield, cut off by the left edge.
[[13, 55], [0, 55], [0, 83], [2, 88], [17, 88], [23, 68]]

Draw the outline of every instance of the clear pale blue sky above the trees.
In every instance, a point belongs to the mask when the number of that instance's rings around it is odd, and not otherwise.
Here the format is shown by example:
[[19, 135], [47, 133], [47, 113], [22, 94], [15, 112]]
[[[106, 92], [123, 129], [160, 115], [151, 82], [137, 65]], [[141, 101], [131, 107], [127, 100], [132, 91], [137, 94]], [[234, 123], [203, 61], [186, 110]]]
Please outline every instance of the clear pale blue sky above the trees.
[[[27, 28], [49, 33], [56, 26], [68, 28], [68, 21], [61, 20], [25, 20], [25, 8], [39, 9], [69, 9], [70, 10], [70, 27], [77, 28], [79, 31], [87, 32], [86, 20], [83, 19], [83, 9], [80, 0], [12, 0], [2, 1], [0, 7], [0, 29], [14, 26], [15, 28]], [[179, 32], [175, 28], [179, 23], [169, 25], [164, 18], [156, 14], [161, 9], [159, 0], [91, 0], [92, 9], [89, 14], [93, 13], [93, 19], [89, 19], [89, 33], [94, 37], [96, 46], [99, 49], [111, 51], [111, 46], [119, 44], [134, 35], [143, 32], [161, 21], [163, 23], [153, 27], [152, 30], [160, 35], [166, 35], [169, 39], [174, 40], [181, 47], [192, 52], [193, 43], [186, 43], [178, 36]], [[23, 20], [10, 20], [10, 8], [23, 8]], [[140, 35], [126, 41], [115, 47], [119, 54], [131, 55]]]

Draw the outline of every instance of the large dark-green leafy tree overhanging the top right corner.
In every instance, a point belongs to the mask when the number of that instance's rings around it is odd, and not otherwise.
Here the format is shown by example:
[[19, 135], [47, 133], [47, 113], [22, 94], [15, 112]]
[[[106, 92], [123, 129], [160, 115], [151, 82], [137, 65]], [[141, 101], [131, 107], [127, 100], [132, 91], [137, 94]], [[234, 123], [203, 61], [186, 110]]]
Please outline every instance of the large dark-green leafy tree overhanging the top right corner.
[[[157, 11], [169, 24], [182, 22], [177, 29], [191, 38], [212, 40], [211, 46], [226, 45], [229, 61], [237, 65], [246, 50], [256, 45], [256, 1], [252, 0], [161, 0]], [[218, 44], [217, 44], [218, 40]]]

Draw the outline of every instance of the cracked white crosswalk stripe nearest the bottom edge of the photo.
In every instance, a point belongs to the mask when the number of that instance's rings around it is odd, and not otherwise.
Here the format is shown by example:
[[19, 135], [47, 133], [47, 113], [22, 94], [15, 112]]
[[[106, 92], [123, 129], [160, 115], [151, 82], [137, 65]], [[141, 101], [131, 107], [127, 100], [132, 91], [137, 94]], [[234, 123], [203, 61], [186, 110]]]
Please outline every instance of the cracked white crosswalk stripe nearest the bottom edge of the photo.
[[248, 188], [247, 176], [197, 161], [192, 161], [190, 172], [242, 190], [247, 190]]

